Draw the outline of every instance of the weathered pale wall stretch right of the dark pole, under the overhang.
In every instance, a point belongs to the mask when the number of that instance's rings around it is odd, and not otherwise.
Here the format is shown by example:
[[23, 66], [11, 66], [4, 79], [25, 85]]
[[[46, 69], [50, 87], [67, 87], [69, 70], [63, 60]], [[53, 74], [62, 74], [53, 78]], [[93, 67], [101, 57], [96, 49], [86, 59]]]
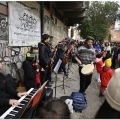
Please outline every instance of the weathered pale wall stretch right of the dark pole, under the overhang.
[[68, 28], [60, 20], [57, 19], [57, 24], [50, 19], [50, 12], [44, 9], [44, 33], [54, 36], [53, 44], [68, 36]]

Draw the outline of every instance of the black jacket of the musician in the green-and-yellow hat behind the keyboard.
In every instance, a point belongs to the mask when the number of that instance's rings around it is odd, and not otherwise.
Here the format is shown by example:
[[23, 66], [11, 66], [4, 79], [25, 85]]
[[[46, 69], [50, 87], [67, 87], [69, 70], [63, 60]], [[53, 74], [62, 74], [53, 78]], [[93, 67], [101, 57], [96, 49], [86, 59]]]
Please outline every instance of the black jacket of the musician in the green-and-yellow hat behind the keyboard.
[[26, 90], [30, 88], [37, 88], [36, 84], [36, 73], [37, 71], [33, 68], [30, 62], [24, 61], [23, 62], [23, 70], [24, 70], [24, 84]]

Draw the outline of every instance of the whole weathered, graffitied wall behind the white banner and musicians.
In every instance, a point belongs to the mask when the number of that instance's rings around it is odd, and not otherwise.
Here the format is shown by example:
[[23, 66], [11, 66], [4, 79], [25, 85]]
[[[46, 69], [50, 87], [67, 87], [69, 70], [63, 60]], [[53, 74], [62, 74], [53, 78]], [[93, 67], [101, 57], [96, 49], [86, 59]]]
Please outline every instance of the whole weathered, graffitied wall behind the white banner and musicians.
[[[34, 1], [21, 1], [19, 2], [29, 8], [37, 9], [40, 12], [40, 5]], [[13, 62], [13, 52], [8, 49], [8, 39], [9, 39], [9, 31], [8, 31], [8, 2], [0, 1], [0, 56], [5, 57], [9, 56], [11, 61]], [[65, 37], [68, 36], [68, 28], [65, 26], [60, 20], [57, 19], [57, 24], [55, 21], [50, 20], [50, 12], [44, 9], [44, 33], [48, 33], [54, 36], [53, 44], [57, 44], [58, 41], [61, 41]], [[29, 51], [30, 47], [15, 47], [17, 51], [19, 51], [19, 56], [15, 56], [15, 61], [18, 61], [19, 67], [21, 67], [21, 63], [25, 60], [25, 54]], [[21, 62], [21, 63], [20, 63]], [[11, 63], [5, 63], [3, 67], [3, 73], [8, 74], [11, 73]], [[20, 72], [23, 77], [23, 71], [20, 69]], [[14, 75], [18, 78], [17, 73], [14, 71]]]

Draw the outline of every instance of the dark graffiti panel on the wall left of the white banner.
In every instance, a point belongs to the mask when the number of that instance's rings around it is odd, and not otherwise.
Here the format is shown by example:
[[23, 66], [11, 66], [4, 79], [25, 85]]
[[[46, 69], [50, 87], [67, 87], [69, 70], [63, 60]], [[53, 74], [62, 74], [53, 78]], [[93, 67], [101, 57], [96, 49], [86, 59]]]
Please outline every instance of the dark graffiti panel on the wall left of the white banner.
[[0, 40], [8, 40], [8, 20], [3, 14], [0, 14]]

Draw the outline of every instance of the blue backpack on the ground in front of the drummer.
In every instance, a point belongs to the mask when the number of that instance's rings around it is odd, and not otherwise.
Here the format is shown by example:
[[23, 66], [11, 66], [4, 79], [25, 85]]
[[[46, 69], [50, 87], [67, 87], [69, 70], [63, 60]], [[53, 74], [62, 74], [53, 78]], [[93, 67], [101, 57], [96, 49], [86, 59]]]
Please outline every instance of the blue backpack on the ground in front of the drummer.
[[70, 99], [73, 100], [73, 110], [82, 112], [87, 107], [87, 100], [83, 93], [72, 92]]

